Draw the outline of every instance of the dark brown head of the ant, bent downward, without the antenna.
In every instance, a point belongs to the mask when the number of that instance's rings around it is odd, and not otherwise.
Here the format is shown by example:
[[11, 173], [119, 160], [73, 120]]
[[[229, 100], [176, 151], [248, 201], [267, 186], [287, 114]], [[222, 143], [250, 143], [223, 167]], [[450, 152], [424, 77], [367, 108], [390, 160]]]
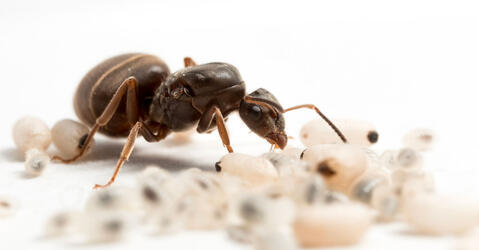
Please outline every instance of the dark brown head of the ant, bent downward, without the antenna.
[[248, 128], [281, 149], [288, 143], [283, 112], [278, 100], [263, 88], [246, 95], [239, 108], [240, 117]]

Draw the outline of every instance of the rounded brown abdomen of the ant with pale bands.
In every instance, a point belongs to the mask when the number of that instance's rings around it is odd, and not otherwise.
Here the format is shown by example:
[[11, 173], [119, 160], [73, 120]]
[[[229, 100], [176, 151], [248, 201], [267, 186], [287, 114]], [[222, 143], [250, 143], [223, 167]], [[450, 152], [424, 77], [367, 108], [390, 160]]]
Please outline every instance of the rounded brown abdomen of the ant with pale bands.
[[[125, 79], [135, 77], [137, 98], [146, 100], [153, 97], [154, 91], [169, 74], [170, 70], [163, 60], [153, 55], [131, 53], [109, 58], [91, 69], [81, 80], [75, 93], [75, 113], [82, 122], [93, 126]], [[146, 109], [147, 105], [140, 107], [140, 116], [148, 112]], [[126, 137], [133, 125], [128, 122], [124, 96], [117, 112], [99, 131], [108, 136]]]

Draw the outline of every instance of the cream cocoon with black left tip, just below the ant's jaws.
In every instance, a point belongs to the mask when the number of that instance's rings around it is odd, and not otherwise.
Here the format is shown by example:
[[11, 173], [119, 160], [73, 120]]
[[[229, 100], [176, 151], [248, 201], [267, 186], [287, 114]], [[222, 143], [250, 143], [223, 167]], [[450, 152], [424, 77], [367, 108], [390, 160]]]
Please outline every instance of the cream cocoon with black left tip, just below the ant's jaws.
[[278, 171], [267, 159], [230, 153], [215, 165], [216, 171], [238, 176], [251, 184], [262, 184], [278, 178]]

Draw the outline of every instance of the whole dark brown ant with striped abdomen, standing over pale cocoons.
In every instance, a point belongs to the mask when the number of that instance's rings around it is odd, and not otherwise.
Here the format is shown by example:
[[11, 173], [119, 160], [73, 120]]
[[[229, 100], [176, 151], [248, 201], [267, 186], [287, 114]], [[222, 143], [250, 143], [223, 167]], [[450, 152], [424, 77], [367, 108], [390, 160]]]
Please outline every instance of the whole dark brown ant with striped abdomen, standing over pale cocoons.
[[310, 104], [283, 110], [279, 101], [267, 90], [246, 94], [245, 83], [238, 70], [227, 63], [196, 65], [184, 59], [185, 68], [170, 74], [158, 57], [147, 54], [124, 54], [110, 58], [93, 68], [80, 82], [74, 99], [75, 112], [91, 127], [80, 141], [80, 158], [96, 132], [113, 137], [128, 137], [115, 172], [106, 187], [115, 181], [129, 158], [138, 135], [149, 142], [164, 139], [171, 132], [196, 126], [198, 133], [218, 129], [228, 152], [233, 152], [225, 127], [225, 118], [239, 110], [241, 119], [257, 135], [273, 146], [284, 148], [287, 135], [283, 113], [298, 109], [316, 110], [346, 141], [341, 132]]

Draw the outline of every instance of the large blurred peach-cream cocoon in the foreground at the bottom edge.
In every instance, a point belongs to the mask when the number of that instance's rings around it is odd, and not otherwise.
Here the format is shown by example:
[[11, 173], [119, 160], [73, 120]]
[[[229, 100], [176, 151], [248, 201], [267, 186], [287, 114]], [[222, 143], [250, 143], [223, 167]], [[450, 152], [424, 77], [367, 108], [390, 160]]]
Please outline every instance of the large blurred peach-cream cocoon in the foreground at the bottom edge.
[[357, 204], [335, 203], [301, 208], [293, 223], [302, 247], [352, 245], [363, 237], [372, 222], [372, 213]]

